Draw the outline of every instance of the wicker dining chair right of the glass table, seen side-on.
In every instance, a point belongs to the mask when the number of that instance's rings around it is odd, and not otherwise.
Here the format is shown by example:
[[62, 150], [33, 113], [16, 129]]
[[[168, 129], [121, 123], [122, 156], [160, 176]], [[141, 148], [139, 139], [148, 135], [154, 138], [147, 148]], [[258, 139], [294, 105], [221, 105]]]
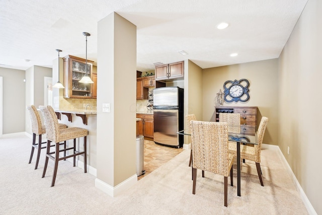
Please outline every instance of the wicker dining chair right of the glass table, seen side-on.
[[[267, 126], [268, 118], [263, 116], [260, 122], [260, 125], [257, 130], [257, 143], [258, 145], [248, 146], [248, 145], [240, 145], [240, 158], [251, 160], [256, 163], [257, 174], [260, 179], [261, 185], [264, 186], [262, 179], [262, 170], [261, 170], [261, 150], [262, 150], [262, 142], [265, 134], [266, 126]], [[229, 153], [236, 155], [236, 142], [229, 141]]]

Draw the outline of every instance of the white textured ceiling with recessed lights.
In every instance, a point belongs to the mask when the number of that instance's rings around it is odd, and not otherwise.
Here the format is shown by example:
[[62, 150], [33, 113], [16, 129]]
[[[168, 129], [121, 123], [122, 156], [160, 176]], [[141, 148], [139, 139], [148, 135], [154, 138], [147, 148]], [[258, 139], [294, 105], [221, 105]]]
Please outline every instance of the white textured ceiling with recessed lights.
[[[279, 57], [307, 0], [1, 0], [0, 66], [97, 61], [97, 23], [116, 12], [137, 26], [137, 70], [190, 59], [201, 68]], [[216, 26], [226, 22], [228, 28]], [[188, 55], [178, 51], [185, 50]], [[231, 53], [238, 53], [231, 57]], [[28, 62], [29, 60], [29, 62]]]

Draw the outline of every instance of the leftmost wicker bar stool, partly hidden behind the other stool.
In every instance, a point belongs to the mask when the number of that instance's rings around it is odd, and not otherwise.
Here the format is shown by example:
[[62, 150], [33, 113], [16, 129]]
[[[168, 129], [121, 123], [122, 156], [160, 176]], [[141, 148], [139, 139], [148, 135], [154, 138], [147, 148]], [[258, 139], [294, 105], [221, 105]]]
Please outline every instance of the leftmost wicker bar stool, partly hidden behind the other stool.
[[[32, 157], [34, 155], [34, 150], [38, 149], [36, 166], [35, 166], [35, 170], [36, 170], [39, 164], [40, 152], [42, 149], [46, 149], [46, 146], [42, 146], [42, 144], [46, 143], [46, 142], [42, 142], [42, 134], [46, 133], [46, 127], [41, 123], [39, 112], [37, 111], [34, 105], [28, 106], [27, 109], [29, 111], [29, 115], [31, 119], [31, 131], [33, 132], [29, 164], [31, 163]], [[66, 128], [66, 127], [67, 125], [65, 124], [59, 124], [59, 129]], [[36, 144], [36, 135], [38, 135], [38, 144]]]

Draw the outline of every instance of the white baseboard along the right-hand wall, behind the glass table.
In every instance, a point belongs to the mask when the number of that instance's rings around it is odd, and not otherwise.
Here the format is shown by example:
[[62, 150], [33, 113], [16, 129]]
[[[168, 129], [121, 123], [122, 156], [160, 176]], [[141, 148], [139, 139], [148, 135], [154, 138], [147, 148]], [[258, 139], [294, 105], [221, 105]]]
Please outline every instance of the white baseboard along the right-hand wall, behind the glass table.
[[281, 159], [283, 160], [288, 174], [291, 176], [291, 178], [293, 180], [293, 183], [295, 185], [295, 188], [296, 188], [297, 192], [300, 194], [300, 197], [301, 197], [301, 199], [302, 199], [302, 201], [303, 201], [303, 203], [304, 203], [304, 205], [305, 205], [305, 207], [307, 209], [307, 212], [309, 214], [312, 214], [312, 215], [313, 214], [317, 215], [316, 211], [314, 210], [314, 207], [312, 206], [311, 202], [308, 200], [304, 190], [302, 189], [300, 183], [298, 182], [297, 178], [295, 177], [290, 165], [287, 163], [286, 158], [284, 157], [284, 155], [283, 155], [281, 149], [279, 148], [279, 146], [263, 144], [262, 149], [270, 149], [270, 150], [278, 151], [278, 154], [281, 157]]

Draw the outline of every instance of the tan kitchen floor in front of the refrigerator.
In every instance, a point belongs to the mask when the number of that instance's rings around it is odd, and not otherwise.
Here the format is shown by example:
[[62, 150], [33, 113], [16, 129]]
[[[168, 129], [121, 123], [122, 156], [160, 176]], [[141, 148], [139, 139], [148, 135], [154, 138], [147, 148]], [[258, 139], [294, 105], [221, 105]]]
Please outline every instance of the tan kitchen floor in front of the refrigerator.
[[144, 139], [144, 167], [145, 174], [138, 176], [140, 180], [153, 170], [167, 163], [183, 151], [182, 148], [173, 148], [155, 144], [153, 141]]

